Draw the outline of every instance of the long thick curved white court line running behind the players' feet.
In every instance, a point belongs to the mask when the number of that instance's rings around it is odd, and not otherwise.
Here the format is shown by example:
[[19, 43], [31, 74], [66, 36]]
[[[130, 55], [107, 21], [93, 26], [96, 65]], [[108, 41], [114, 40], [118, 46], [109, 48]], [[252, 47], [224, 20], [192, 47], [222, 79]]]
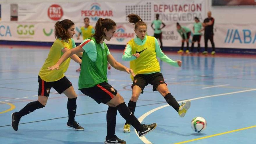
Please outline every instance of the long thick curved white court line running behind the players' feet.
[[[218, 95], [208, 95], [208, 96], [204, 96], [204, 97], [196, 97], [196, 98], [189, 99], [189, 100], [190, 100], [190, 101], [193, 101], [193, 100], [204, 99], [204, 98], [208, 98], [208, 97], [217, 97], [217, 96], [221, 96], [221, 95], [231, 95], [231, 94], [235, 94], [235, 93], [243, 93], [243, 92], [254, 91], [254, 90], [256, 90], [256, 88], [255, 88], [255, 89], [250, 89], [250, 90], [241, 90], [241, 91], [236, 91], [236, 92], [231, 92], [231, 93], [222, 93], [222, 94], [218, 94]], [[186, 101], [186, 100], [178, 101], [178, 103], [185, 102], [185, 101]], [[170, 106], [170, 105], [169, 105], [169, 104], [166, 104], [166, 105], [163, 105], [163, 106], [159, 106], [159, 107], [157, 107], [157, 108], [155, 108], [155, 109], [152, 109], [152, 110], [148, 111], [147, 113], [141, 115], [141, 117], [138, 118], [138, 120], [139, 120], [140, 122], [142, 122], [148, 115], [150, 115], [151, 113], [153, 113], [153, 112], [155, 112], [155, 111], [157, 111], [157, 110], [159, 110], [159, 109], [162, 109], [162, 108], [164, 108], [164, 107], [166, 107], [166, 106]], [[135, 131], [135, 133], [137, 134], [136, 129], [134, 129], [134, 131]], [[137, 134], [137, 136], [138, 136], [138, 134]], [[143, 137], [139, 137], [139, 136], [138, 136], [138, 138], [140, 138], [141, 141], [143, 141], [143, 143], [152, 144], [145, 136], [143, 136]]]

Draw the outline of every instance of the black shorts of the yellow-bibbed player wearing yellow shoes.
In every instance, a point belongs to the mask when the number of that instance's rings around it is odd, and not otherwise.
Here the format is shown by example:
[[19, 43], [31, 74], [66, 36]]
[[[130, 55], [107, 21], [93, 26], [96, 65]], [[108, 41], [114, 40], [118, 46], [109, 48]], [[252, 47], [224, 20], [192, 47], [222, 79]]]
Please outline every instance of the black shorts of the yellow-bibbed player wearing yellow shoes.
[[133, 88], [133, 86], [139, 86], [142, 90], [141, 93], [143, 93], [145, 86], [151, 84], [153, 86], [152, 91], [156, 91], [157, 87], [162, 83], [165, 83], [165, 81], [163, 80], [163, 75], [160, 72], [156, 72], [153, 74], [138, 74], [134, 77], [131, 89]]

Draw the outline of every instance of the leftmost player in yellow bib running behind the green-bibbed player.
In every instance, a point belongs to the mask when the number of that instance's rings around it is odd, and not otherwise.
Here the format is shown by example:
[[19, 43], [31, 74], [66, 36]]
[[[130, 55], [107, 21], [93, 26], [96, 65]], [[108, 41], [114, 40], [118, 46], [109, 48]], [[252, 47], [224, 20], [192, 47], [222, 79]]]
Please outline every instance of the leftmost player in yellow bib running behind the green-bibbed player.
[[22, 116], [32, 113], [36, 109], [45, 107], [51, 88], [54, 88], [59, 94], [64, 93], [67, 100], [68, 121], [67, 127], [83, 131], [83, 127], [75, 121], [77, 110], [77, 94], [74, 91], [72, 83], [65, 77], [64, 73], [67, 71], [70, 63], [70, 58], [81, 63], [81, 59], [77, 55], [71, 55], [66, 61], [60, 65], [58, 70], [50, 71], [47, 67], [54, 65], [60, 57], [68, 50], [76, 47], [73, 36], [75, 34], [74, 22], [69, 19], [58, 21], [55, 24], [54, 41], [49, 54], [45, 60], [44, 65], [39, 71], [38, 75], [38, 101], [30, 102], [19, 112], [12, 113], [12, 127], [15, 131], [18, 130], [19, 120]]

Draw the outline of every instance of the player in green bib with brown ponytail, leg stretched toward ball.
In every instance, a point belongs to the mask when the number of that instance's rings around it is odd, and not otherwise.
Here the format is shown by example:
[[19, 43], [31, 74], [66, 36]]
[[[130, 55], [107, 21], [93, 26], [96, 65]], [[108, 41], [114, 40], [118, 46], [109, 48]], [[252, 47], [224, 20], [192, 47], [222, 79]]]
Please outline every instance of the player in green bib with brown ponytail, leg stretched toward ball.
[[[83, 52], [82, 67], [78, 81], [79, 90], [83, 94], [93, 98], [98, 104], [104, 103], [109, 106], [106, 114], [107, 136], [105, 138], [105, 144], [126, 143], [115, 135], [117, 111], [119, 111], [125, 120], [131, 123], [140, 137], [152, 131], [157, 126], [156, 123], [141, 125], [134, 114], [129, 111], [124, 98], [108, 83], [107, 62], [115, 69], [135, 76], [131, 69], [115, 60], [104, 42], [104, 40], [111, 40], [116, 29], [116, 24], [112, 19], [99, 18], [95, 25], [95, 34], [92, 38], [84, 40], [78, 47], [66, 52], [56, 65], [49, 67], [49, 70], [54, 70], [60, 67], [61, 63], [72, 54]], [[98, 135], [97, 133], [95, 134]]]

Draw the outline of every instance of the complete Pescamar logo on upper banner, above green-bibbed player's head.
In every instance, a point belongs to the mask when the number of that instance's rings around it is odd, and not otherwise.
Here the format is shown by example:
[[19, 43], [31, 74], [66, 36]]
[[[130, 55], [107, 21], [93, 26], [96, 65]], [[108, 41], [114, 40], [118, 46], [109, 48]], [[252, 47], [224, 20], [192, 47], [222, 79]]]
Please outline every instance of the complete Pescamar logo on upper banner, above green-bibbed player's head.
[[113, 11], [102, 10], [99, 3], [93, 3], [90, 10], [81, 11], [81, 16], [91, 17], [93, 21], [97, 21], [100, 17], [113, 17]]

